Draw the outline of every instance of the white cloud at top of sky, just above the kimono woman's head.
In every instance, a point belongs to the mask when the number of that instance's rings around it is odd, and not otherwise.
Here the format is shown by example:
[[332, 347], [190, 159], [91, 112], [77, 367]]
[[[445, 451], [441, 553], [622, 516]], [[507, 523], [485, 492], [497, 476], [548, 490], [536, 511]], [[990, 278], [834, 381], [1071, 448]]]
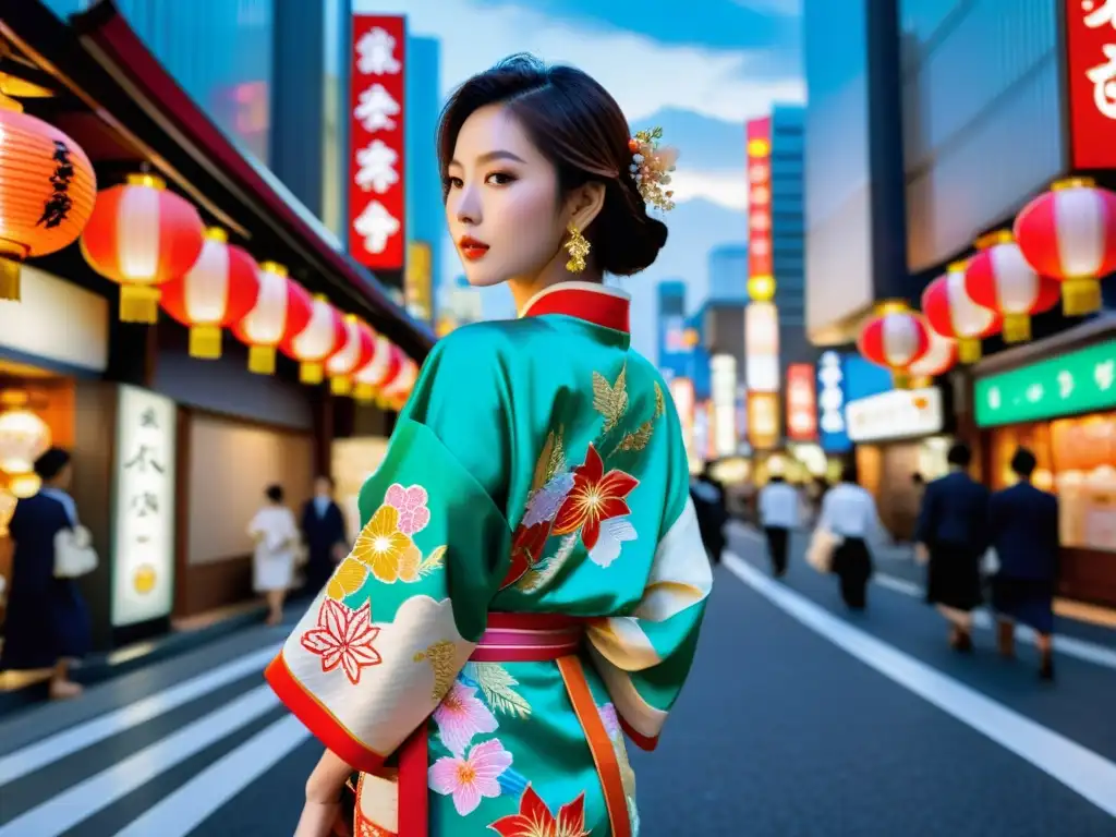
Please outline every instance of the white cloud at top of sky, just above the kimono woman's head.
[[580, 28], [532, 9], [491, 8], [470, 0], [355, 0], [355, 11], [405, 13], [415, 35], [442, 41], [442, 86], [449, 93], [499, 59], [529, 51], [573, 64], [603, 84], [628, 117], [664, 107], [730, 122], [764, 114], [772, 102], [805, 100], [799, 78], [749, 80], [760, 56], [658, 44], [632, 32]]

